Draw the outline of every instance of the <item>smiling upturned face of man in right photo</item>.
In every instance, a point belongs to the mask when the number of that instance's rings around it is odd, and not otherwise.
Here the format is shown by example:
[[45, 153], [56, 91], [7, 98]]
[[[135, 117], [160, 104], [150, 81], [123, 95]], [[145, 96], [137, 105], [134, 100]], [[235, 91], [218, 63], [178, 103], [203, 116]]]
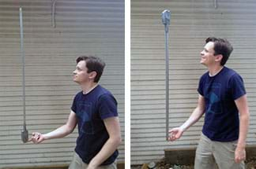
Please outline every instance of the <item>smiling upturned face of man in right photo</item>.
[[200, 64], [204, 64], [205, 66], [210, 66], [216, 63], [214, 56], [214, 43], [208, 42], [205, 44], [204, 50], [201, 51], [201, 61]]

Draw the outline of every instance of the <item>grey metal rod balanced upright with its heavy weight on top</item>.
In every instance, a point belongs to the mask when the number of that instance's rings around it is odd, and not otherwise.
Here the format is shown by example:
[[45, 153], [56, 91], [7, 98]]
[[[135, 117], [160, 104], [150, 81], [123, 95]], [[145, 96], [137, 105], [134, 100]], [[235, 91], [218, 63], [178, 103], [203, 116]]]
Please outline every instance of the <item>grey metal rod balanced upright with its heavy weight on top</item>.
[[166, 140], [168, 140], [169, 133], [169, 50], [168, 37], [171, 19], [171, 12], [165, 9], [162, 13], [162, 23], [164, 24], [165, 35], [165, 109], [166, 109]]

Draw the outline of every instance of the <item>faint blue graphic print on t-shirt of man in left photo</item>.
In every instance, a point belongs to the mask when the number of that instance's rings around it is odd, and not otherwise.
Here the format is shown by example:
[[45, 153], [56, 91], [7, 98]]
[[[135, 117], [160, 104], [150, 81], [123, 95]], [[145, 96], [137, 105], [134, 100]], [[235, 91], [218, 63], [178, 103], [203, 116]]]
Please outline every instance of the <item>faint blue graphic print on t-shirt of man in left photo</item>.
[[81, 121], [80, 132], [94, 134], [92, 126], [92, 103], [82, 102], [78, 105], [78, 120]]

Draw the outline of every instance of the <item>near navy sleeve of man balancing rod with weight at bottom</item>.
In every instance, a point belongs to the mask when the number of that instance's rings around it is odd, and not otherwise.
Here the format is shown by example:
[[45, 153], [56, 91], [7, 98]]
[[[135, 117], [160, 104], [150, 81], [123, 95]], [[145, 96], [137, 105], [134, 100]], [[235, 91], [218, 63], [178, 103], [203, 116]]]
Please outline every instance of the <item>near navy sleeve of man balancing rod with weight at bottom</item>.
[[117, 101], [111, 94], [104, 94], [99, 98], [99, 112], [101, 119], [118, 116]]

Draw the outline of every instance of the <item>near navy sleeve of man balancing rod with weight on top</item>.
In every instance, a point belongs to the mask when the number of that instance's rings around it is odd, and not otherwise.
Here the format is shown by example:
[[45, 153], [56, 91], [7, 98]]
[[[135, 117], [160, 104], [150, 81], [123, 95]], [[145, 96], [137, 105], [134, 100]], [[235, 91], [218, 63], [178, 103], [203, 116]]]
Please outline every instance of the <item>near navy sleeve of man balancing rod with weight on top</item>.
[[247, 94], [244, 84], [243, 84], [243, 79], [240, 75], [235, 74], [232, 75], [230, 79], [229, 86], [232, 91], [232, 99], [235, 101], [239, 97], [243, 96], [244, 94]]

